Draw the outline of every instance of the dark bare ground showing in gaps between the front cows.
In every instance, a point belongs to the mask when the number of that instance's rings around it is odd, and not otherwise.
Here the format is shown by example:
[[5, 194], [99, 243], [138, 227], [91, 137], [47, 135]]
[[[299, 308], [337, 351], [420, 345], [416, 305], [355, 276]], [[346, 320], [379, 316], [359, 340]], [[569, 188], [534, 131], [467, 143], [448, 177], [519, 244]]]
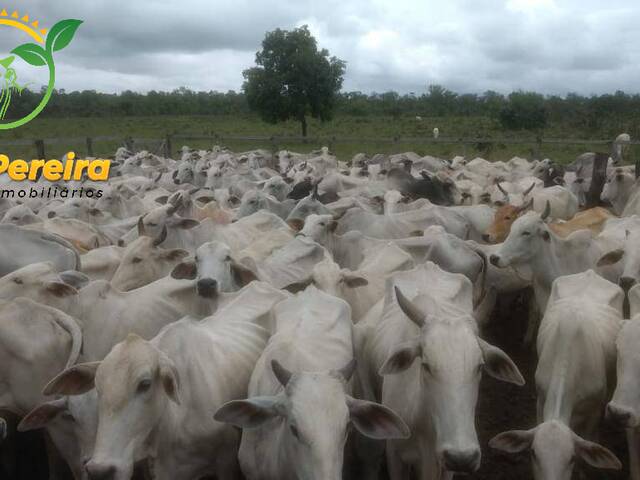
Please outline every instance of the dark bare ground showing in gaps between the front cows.
[[[503, 312], [503, 313], [500, 313]], [[532, 480], [528, 454], [508, 456], [489, 448], [489, 440], [505, 430], [529, 429], [535, 426], [536, 359], [532, 351], [523, 347], [526, 331], [526, 308], [522, 298], [494, 312], [491, 325], [483, 333], [490, 343], [502, 348], [516, 363], [527, 384], [516, 387], [484, 376], [480, 386], [477, 410], [478, 435], [482, 448], [480, 471], [466, 478], [469, 480]], [[10, 425], [10, 428], [12, 425]], [[15, 428], [15, 427], [14, 427]], [[624, 465], [621, 472], [591, 471], [589, 478], [597, 480], [623, 480], [628, 478], [627, 449], [624, 433], [613, 430], [606, 423], [601, 428], [600, 443], [611, 449]], [[17, 473], [2, 471], [0, 480], [45, 480], [47, 461], [44, 444], [38, 432], [18, 434], [17, 451], [7, 452], [0, 446], [0, 457], [18, 459]], [[4, 450], [4, 451], [3, 451]], [[574, 477], [577, 478], [576, 475]]]

